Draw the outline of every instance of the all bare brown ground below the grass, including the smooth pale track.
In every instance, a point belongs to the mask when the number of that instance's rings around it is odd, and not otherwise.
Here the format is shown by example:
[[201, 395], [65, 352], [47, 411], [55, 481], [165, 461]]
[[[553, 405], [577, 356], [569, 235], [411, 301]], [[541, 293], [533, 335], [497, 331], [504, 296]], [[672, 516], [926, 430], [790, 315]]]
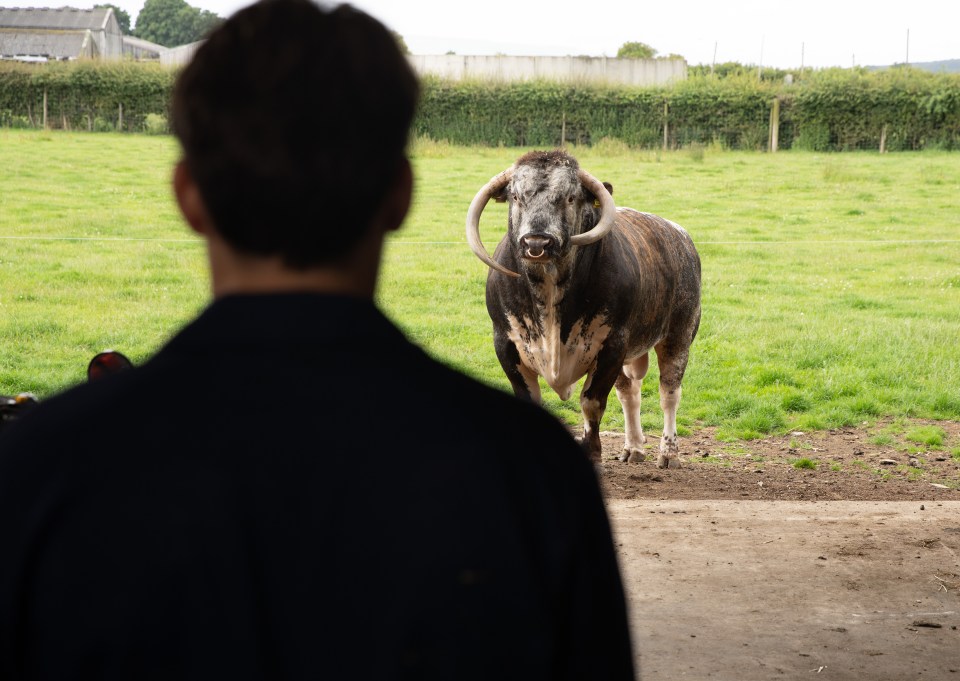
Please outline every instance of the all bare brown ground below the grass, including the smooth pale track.
[[960, 681], [960, 424], [700, 430], [679, 470], [651, 435], [628, 465], [604, 434], [600, 472], [642, 679]]

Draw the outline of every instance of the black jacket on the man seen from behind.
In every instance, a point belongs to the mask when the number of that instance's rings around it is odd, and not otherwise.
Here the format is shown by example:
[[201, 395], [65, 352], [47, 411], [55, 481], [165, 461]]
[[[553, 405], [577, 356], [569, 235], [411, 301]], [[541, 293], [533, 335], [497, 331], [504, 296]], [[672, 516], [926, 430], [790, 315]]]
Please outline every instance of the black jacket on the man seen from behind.
[[593, 471], [368, 302], [221, 299], [0, 436], [0, 678], [630, 679]]

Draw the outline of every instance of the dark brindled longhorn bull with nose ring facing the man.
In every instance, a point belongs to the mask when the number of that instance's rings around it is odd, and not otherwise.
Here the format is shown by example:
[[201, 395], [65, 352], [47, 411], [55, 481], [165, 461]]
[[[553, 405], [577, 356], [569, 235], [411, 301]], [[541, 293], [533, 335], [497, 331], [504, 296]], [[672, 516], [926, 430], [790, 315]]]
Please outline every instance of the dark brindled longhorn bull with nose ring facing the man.
[[[494, 348], [514, 393], [539, 403], [542, 376], [567, 400], [586, 376], [581, 443], [599, 461], [600, 419], [616, 388], [620, 460], [643, 461], [640, 388], [655, 350], [664, 420], [657, 465], [679, 468], [677, 407], [700, 325], [700, 257], [682, 227], [618, 208], [612, 191], [564, 151], [530, 152], [477, 193], [467, 241], [490, 267]], [[492, 257], [480, 239], [491, 198], [509, 203]]]

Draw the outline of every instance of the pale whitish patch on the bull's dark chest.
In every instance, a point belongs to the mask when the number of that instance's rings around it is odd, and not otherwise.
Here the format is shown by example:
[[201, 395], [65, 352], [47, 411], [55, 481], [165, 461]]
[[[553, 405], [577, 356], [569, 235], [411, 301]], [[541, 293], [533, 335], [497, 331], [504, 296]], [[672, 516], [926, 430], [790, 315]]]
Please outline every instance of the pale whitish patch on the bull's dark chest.
[[602, 315], [597, 315], [585, 324], [585, 320], [574, 322], [564, 343], [560, 334], [560, 318], [556, 301], [548, 300], [537, 320], [524, 317], [518, 319], [507, 315], [510, 325], [509, 338], [520, 354], [520, 361], [528, 369], [543, 376], [562, 400], [570, 399], [573, 386], [580, 378], [593, 369], [597, 353], [610, 333], [610, 327]]

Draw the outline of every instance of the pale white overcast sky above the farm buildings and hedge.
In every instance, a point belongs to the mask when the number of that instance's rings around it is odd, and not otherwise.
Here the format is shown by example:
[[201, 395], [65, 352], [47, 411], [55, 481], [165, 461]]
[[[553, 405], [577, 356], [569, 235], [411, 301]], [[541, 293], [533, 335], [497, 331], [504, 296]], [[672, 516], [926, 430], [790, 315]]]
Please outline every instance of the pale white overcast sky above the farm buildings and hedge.
[[[92, 7], [103, 0], [0, 7]], [[229, 16], [243, 0], [187, 0]], [[132, 19], [143, 0], [114, 0]], [[330, 4], [330, 3], [327, 3]], [[957, 0], [354, 0], [400, 33], [414, 54], [615, 57], [639, 41], [689, 64], [779, 68], [960, 59]]]

